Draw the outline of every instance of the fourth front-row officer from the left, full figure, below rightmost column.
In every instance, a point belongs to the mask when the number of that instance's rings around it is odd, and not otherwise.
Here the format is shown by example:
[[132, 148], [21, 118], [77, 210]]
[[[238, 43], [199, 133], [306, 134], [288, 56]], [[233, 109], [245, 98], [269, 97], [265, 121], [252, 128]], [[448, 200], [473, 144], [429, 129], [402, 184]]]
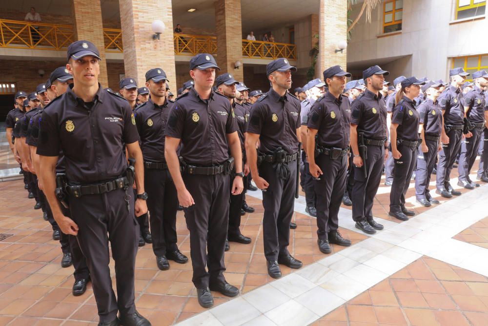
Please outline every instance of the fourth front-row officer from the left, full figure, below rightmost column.
[[328, 90], [312, 106], [306, 134], [309, 172], [315, 178], [317, 243], [324, 254], [331, 252], [329, 243], [346, 247], [351, 245], [351, 241], [344, 239], [338, 230], [339, 208], [346, 189], [351, 134], [350, 103], [347, 96], [342, 95], [346, 77], [351, 77], [351, 74], [339, 65], [324, 71]]

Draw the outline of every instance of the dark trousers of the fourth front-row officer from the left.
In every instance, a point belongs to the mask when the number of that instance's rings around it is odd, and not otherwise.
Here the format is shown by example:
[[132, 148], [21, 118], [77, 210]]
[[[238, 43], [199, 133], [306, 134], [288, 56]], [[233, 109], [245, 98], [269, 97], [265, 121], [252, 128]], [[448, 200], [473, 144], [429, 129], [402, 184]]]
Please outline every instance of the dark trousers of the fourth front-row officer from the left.
[[320, 180], [314, 178], [315, 208], [317, 209], [317, 236], [328, 239], [328, 233], [339, 227], [339, 209], [346, 189], [347, 155], [330, 158], [319, 155], [316, 163], [324, 174]]

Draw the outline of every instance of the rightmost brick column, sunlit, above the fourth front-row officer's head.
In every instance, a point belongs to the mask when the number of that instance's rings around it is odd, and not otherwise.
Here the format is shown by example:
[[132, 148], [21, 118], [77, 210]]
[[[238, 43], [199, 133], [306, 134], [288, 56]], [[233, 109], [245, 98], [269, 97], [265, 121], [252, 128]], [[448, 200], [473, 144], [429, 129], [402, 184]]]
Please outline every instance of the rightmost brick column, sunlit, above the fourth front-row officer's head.
[[319, 57], [315, 68], [317, 78], [332, 66], [346, 69], [346, 49], [335, 53], [337, 44], [347, 40], [347, 0], [320, 0], [319, 9]]

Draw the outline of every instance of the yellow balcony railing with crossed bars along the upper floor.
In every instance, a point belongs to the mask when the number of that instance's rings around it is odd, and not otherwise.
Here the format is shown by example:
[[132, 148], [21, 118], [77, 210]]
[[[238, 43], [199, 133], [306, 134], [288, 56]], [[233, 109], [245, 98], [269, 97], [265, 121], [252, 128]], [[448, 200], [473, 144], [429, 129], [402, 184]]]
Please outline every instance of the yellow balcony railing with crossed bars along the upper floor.
[[[74, 41], [73, 26], [10, 21], [0, 19], [0, 47], [40, 50], [64, 50]], [[103, 28], [106, 52], [123, 52], [122, 30]], [[193, 56], [217, 53], [217, 38], [189, 34], [174, 34], [175, 54]], [[242, 41], [244, 58], [296, 60], [295, 44]]]

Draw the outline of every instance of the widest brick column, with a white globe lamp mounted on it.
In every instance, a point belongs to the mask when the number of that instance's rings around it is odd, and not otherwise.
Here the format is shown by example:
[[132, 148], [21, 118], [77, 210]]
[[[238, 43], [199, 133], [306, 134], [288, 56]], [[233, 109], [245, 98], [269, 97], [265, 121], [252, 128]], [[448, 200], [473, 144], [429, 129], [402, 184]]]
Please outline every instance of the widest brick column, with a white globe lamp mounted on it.
[[[136, 78], [137, 86], [142, 87], [147, 70], [163, 68], [169, 87], [176, 95], [171, 0], [119, 0], [119, 5], [125, 76]], [[151, 24], [155, 20], [163, 21], [166, 26], [160, 40], [152, 39], [154, 33]]]

